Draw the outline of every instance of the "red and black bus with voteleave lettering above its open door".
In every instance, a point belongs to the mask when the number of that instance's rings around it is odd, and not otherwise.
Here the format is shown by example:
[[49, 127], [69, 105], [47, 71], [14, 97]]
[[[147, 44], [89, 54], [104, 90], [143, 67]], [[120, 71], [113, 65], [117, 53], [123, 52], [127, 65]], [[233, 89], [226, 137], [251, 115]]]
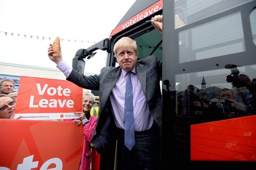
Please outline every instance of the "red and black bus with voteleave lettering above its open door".
[[[157, 14], [163, 14], [163, 35], [145, 22]], [[123, 36], [136, 40], [139, 59], [154, 54], [163, 60], [159, 169], [187, 163], [255, 167], [255, 0], [136, 0], [103, 40], [107, 47], [99, 42], [87, 51], [106, 50], [106, 66], [117, 66], [113, 46]], [[249, 84], [236, 81], [241, 74], [249, 76]], [[223, 88], [246, 110], [219, 100]], [[113, 164], [118, 169], [117, 159]]]

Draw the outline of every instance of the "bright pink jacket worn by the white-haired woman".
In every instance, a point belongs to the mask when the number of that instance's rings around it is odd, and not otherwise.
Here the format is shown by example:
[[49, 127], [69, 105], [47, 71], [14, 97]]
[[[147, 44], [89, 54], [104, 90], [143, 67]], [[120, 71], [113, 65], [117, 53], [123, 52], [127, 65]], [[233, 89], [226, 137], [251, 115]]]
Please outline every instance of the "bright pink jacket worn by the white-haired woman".
[[[90, 118], [88, 119], [88, 116]], [[82, 158], [80, 161], [79, 170], [90, 170], [91, 168], [91, 139], [93, 136], [93, 131], [95, 129], [96, 123], [98, 118], [95, 116], [91, 116], [90, 114], [86, 115], [89, 122], [87, 124], [84, 124], [84, 145], [83, 145], [83, 152], [82, 152]], [[74, 119], [63, 119], [62, 121], [73, 121]]]

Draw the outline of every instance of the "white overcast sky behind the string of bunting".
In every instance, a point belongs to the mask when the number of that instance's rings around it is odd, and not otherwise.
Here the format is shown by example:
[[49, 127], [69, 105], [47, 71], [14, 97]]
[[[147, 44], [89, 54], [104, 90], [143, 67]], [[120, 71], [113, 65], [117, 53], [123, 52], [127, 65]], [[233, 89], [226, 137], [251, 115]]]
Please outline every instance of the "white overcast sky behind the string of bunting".
[[[59, 36], [70, 66], [77, 50], [109, 38], [135, 0], [0, 0], [0, 62], [56, 68], [48, 47]], [[98, 74], [104, 53], [85, 60]]]

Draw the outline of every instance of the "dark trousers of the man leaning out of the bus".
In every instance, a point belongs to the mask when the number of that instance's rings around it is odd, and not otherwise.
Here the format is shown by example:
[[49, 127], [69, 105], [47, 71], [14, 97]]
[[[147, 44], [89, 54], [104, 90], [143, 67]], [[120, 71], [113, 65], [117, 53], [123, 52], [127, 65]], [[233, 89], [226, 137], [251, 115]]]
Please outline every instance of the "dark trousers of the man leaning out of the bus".
[[146, 131], [135, 132], [135, 146], [130, 151], [124, 145], [124, 130], [117, 141], [117, 170], [159, 170], [161, 135], [156, 123]]

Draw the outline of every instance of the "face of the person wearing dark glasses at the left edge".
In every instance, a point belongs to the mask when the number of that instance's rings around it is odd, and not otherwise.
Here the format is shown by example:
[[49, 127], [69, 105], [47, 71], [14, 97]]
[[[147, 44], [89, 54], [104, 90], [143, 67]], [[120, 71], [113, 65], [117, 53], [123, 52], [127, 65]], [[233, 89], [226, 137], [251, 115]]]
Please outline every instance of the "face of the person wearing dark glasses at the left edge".
[[12, 99], [10, 97], [7, 97], [7, 96], [0, 97], [0, 108], [7, 105], [7, 108], [5, 108], [4, 110], [0, 110], [0, 119], [10, 119], [11, 115], [15, 112], [16, 103], [14, 103], [11, 106], [8, 105], [11, 102], [12, 102]]

